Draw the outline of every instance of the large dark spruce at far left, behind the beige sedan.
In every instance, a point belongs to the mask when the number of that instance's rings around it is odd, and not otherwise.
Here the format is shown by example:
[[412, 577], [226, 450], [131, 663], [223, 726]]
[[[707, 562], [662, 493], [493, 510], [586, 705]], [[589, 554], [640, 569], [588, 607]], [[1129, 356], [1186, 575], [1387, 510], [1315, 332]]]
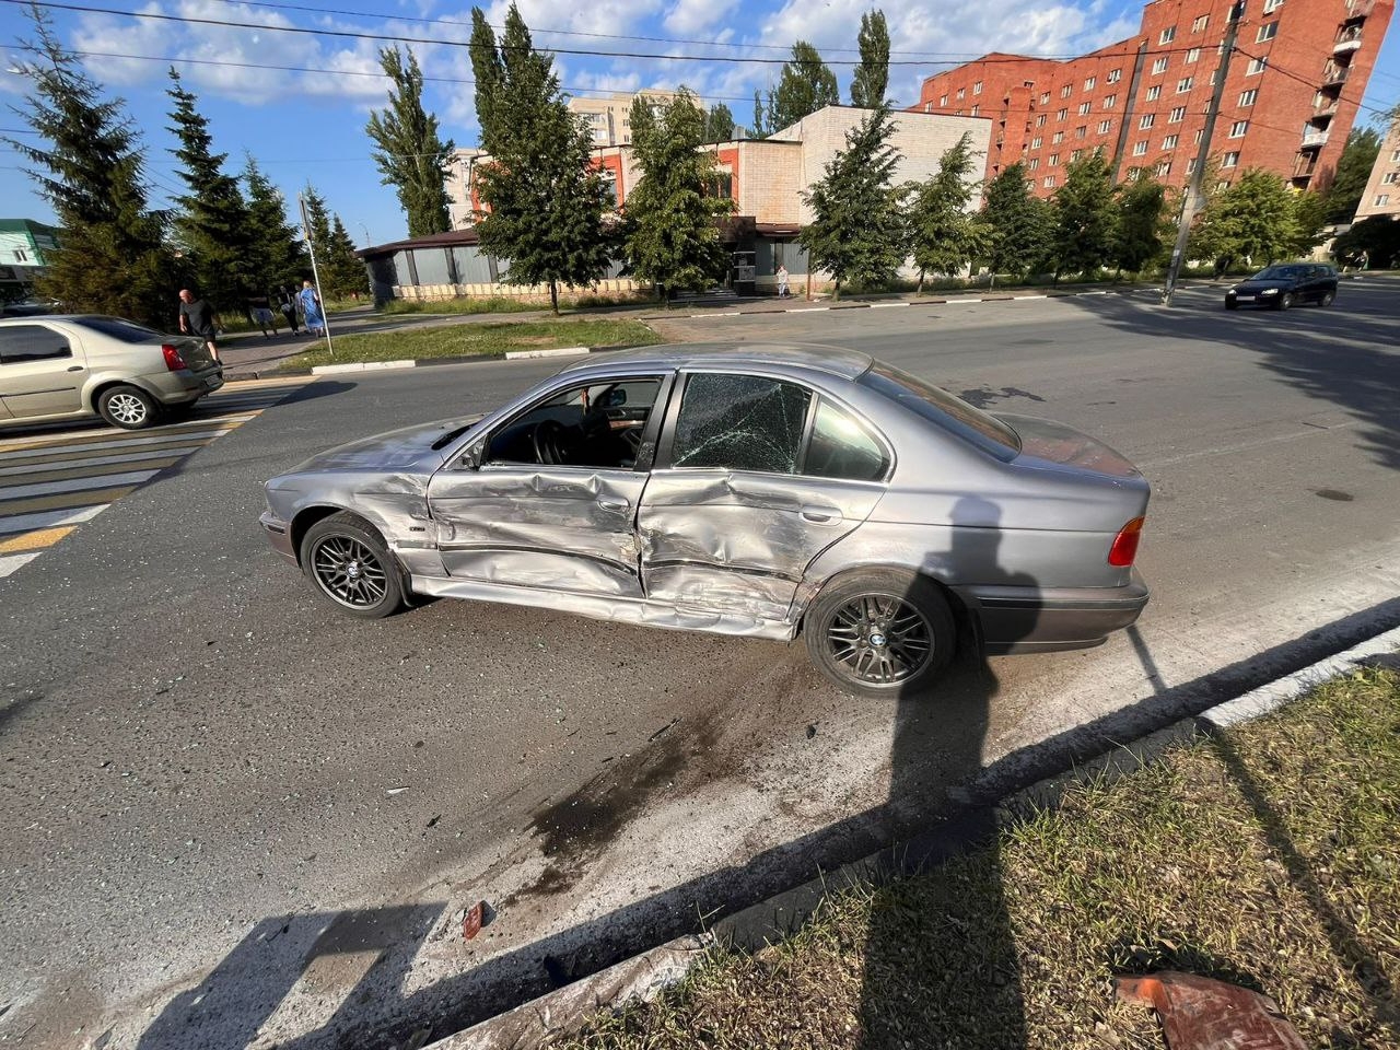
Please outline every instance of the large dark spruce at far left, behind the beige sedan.
[[42, 141], [3, 141], [32, 165], [63, 227], [35, 287], [67, 309], [168, 329], [181, 273], [164, 242], [165, 217], [147, 203], [144, 153], [126, 106], [102, 98], [41, 7], [28, 15], [35, 39], [21, 43], [15, 67], [31, 88], [17, 112]]

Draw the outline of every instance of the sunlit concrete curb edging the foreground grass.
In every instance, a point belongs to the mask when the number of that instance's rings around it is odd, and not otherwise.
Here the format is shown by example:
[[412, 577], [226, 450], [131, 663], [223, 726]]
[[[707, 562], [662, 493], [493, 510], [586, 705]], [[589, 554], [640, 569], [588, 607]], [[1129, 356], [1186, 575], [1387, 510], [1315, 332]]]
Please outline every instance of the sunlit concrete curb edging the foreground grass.
[[[1343, 652], [1326, 657], [1291, 675], [1284, 675], [1232, 700], [1225, 700], [1204, 711], [1182, 718], [1155, 732], [1147, 734], [1138, 742], [1151, 739], [1182, 739], [1200, 727], [1224, 728], [1252, 721], [1296, 700], [1309, 689], [1347, 672], [1372, 657], [1394, 652], [1400, 648], [1400, 627], [1392, 627]], [[1131, 746], [1120, 745], [1121, 746]], [[1109, 756], [1112, 760], [1112, 756]], [[1145, 759], [1151, 760], [1151, 759]], [[1091, 763], [1092, 764], [1092, 763]], [[1053, 787], [1064, 777], [1075, 776], [1064, 770], [1035, 784], [1012, 791], [1007, 798], [1035, 797]], [[1004, 802], [998, 799], [998, 802]], [[995, 805], [993, 802], [991, 805]], [[952, 855], [976, 843], [976, 833], [969, 834], [959, 827], [959, 818], [945, 822], [952, 844], [942, 855]], [[966, 822], [976, 827], [984, 822]], [[962, 836], [959, 836], [962, 832]], [[605, 970], [582, 977], [557, 991], [540, 995], [514, 1009], [489, 1018], [472, 1028], [430, 1043], [424, 1050], [522, 1050], [538, 1046], [547, 1036], [570, 1032], [584, 1025], [588, 1018], [609, 1007], [617, 1007], [633, 1000], [650, 1000], [671, 984], [680, 981], [690, 966], [704, 956], [714, 944], [736, 939], [750, 946], [771, 941], [791, 932], [804, 923], [820, 903], [822, 897], [843, 885], [868, 878], [879, 878], [897, 867], [900, 847], [881, 850], [869, 857], [847, 864], [833, 872], [823, 872], [801, 886], [784, 890], [764, 902], [743, 909], [715, 924], [713, 930], [699, 935], [679, 937], [651, 948], [631, 959], [624, 959]], [[895, 864], [892, 865], [892, 860]], [[924, 862], [927, 862], [925, 858]]]

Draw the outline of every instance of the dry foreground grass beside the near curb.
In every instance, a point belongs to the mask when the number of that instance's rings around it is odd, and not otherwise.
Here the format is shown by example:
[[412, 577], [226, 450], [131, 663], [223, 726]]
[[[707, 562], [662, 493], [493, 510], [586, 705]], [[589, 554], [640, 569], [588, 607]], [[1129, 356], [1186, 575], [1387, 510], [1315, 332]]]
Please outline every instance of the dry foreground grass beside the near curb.
[[1264, 991], [1308, 1046], [1400, 1047], [1400, 676], [1358, 671], [1072, 787], [561, 1044], [1161, 1050], [1112, 986], [1158, 969]]

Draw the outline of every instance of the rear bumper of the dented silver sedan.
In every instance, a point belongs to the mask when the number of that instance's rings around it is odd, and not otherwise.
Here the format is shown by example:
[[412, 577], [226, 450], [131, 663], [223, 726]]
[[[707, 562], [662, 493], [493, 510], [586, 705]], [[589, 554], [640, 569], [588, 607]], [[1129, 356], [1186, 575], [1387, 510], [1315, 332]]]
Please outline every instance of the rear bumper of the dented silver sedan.
[[1138, 571], [1123, 587], [953, 588], [981, 624], [990, 654], [1054, 652], [1100, 645], [1130, 627], [1148, 601]]

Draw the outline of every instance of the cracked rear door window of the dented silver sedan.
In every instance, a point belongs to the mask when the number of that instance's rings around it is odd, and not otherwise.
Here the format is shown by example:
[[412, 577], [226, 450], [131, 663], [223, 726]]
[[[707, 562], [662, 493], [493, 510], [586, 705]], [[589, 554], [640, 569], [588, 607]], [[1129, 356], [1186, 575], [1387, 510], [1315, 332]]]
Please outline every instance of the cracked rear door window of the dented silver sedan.
[[697, 372], [686, 384], [673, 466], [797, 473], [811, 393], [760, 375]]

